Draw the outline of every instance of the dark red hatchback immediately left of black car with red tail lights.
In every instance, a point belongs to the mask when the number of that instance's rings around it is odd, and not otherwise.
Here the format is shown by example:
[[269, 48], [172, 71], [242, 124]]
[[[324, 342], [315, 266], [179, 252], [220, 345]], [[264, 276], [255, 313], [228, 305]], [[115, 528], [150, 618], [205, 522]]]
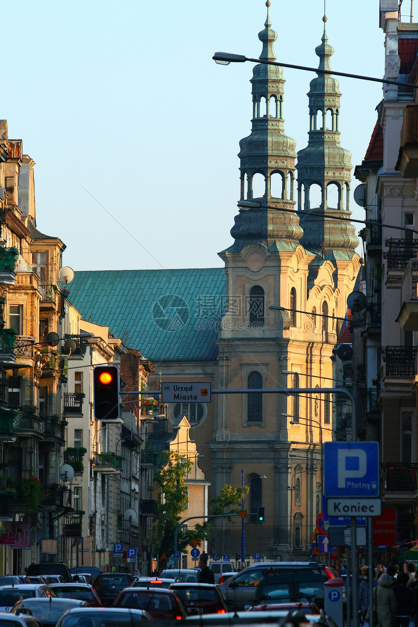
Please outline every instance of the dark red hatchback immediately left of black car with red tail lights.
[[114, 608], [146, 609], [152, 618], [182, 620], [187, 610], [179, 594], [165, 588], [126, 588], [113, 603]]

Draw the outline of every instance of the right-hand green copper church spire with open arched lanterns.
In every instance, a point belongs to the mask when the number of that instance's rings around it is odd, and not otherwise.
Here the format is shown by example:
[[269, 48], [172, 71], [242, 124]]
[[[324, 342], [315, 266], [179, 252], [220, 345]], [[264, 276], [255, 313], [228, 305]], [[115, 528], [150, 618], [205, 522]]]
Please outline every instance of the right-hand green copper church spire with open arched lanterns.
[[[324, 6], [325, 9], [325, 6]], [[334, 49], [328, 44], [327, 16], [323, 16], [321, 43], [315, 48], [319, 57], [318, 76], [310, 83], [310, 130], [308, 145], [298, 152], [298, 202], [306, 211], [301, 217], [304, 235], [301, 244], [324, 258], [350, 260], [358, 244], [355, 229], [349, 222], [327, 217], [350, 217], [351, 152], [340, 144], [339, 85], [331, 74]], [[330, 73], [328, 73], [330, 72]], [[316, 194], [315, 194], [316, 192]], [[325, 218], [311, 216], [311, 209], [325, 212]]]

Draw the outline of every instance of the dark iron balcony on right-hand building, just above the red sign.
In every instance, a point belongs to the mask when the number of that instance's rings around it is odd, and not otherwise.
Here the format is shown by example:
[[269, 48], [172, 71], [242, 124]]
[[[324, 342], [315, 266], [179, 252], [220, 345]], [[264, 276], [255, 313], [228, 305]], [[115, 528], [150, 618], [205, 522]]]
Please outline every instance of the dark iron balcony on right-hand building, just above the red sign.
[[382, 464], [380, 477], [384, 500], [393, 504], [415, 501], [417, 494], [417, 464]]

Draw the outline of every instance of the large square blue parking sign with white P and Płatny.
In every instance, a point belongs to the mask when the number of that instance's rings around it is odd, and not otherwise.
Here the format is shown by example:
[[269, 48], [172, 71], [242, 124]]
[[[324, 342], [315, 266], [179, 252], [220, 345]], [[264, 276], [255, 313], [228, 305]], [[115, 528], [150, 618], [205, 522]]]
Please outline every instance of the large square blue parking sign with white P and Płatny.
[[324, 466], [327, 497], [379, 496], [377, 442], [325, 442]]

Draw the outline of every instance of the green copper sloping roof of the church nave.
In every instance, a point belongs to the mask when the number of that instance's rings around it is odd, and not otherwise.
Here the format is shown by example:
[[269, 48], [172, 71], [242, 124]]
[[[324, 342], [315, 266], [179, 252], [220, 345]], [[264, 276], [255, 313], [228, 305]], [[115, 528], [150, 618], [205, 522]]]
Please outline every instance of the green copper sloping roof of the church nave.
[[152, 361], [216, 359], [224, 268], [76, 272], [70, 301]]

